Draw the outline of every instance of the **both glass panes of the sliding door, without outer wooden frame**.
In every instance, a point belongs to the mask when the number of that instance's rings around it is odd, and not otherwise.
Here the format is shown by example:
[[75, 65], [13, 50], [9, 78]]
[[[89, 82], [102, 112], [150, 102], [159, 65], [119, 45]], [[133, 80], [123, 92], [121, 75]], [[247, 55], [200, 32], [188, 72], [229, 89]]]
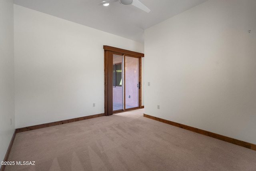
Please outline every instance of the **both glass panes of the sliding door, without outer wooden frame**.
[[113, 111], [139, 106], [139, 58], [113, 54]]

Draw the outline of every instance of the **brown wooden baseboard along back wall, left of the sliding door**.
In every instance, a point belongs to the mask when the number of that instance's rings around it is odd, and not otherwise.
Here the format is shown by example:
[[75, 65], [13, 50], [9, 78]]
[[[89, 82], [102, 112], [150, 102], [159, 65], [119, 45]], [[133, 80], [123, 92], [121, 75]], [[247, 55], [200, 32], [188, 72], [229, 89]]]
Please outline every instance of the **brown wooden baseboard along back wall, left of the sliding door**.
[[55, 126], [55, 125], [61, 125], [61, 124], [64, 124], [64, 123], [82, 121], [82, 120], [85, 120], [85, 119], [91, 119], [91, 118], [94, 118], [94, 117], [101, 117], [101, 116], [104, 116], [104, 115], [105, 115], [104, 113], [101, 113], [101, 114], [96, 114], [96, 115], [77, 117], [77, 118], [74, 118], [74, 119], [67, 119], [67, 120], [63, 120], [63, 121], [56, 121], [56, 122], [44, 123], [44, 124], [34, 125], [34, 126], [29, 126], [29, 127], [17, 128], [16, 133], [24, 132], [24, 131], [30, 131], [30, 130], [34, 130], [34, 129], [45, 128], [45, 127], [51, 127], [51, 126]]

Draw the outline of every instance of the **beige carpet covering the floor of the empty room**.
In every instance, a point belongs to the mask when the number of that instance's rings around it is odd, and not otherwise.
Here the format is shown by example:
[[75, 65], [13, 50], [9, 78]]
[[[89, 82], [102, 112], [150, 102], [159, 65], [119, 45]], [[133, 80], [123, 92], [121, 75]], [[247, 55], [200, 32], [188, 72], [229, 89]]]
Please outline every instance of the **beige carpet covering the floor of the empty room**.
[[255, 171], [256, 151], [143, 117], [143, 109], [17, 133], [6, 171]]

